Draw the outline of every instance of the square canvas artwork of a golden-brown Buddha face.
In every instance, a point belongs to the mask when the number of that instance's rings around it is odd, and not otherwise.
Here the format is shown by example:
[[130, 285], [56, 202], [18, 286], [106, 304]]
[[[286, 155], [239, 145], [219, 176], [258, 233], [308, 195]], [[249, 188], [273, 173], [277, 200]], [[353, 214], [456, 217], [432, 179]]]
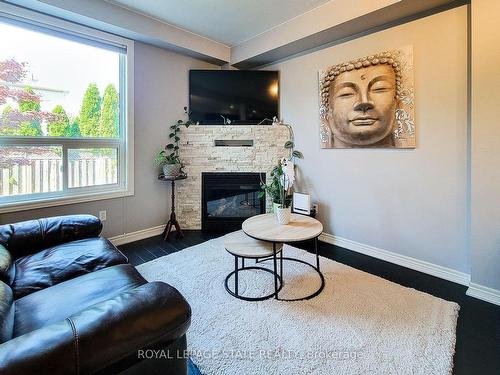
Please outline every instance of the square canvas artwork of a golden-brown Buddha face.
[[319, 73], [322, 148], [415, 148], [413, 48]]

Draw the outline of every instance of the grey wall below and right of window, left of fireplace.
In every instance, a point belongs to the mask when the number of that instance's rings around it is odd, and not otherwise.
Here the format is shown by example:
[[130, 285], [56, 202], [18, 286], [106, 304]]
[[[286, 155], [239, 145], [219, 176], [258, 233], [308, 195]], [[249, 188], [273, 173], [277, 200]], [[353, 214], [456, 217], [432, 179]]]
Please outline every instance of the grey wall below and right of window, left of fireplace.
[[108, 237], [166, 223], [170, 211], [170, 184], [156, 179], [155, 152], [168, 140], [168, 125], [182, 118], [188, 105], [189, 69], [217, 66], [143, 43], [135, 43], [134, 145], [135, 195], [0, 215], [0, 223], [33, 218], [107, 211]]

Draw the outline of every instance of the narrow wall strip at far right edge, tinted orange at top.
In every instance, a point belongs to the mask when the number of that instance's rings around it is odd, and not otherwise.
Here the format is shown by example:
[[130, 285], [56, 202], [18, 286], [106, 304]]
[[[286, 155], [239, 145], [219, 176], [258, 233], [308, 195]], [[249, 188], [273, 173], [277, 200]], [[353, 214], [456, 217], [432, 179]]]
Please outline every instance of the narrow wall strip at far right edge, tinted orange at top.
[[[471, 281], [500, 290], [500, 1], [472, 1]], [[500, 292], [497, 295], [500, 303]]]

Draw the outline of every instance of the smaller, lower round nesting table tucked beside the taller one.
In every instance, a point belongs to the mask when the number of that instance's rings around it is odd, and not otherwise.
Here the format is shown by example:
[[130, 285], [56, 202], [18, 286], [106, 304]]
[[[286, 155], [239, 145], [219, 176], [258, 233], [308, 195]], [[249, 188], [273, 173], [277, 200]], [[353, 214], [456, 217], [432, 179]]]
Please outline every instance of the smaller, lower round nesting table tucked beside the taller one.
[[[280, 275], [278, 275], [278, 270], [276, 267], [276, 262], [274, 263], [274, 269], [259, 267], [259, 266], [245, 266], [245, 259], [255, 259], [256, 263], [259, 259], [268, 258], [270, 256], [276, 256], [276, 252], [280, 252], [283, 248], [282, 244], [275, 245], [274, 247], [269, 242], [259, 241], [252, 237], [248, 237], [245, 233], [238, 231], [230, 233], [224, 237], [224, 247], [227, 252], [234, 256], [234, 271], [227, 275], [224, 281], [224, 286], [229, 294], [233, 297], [245, 300], [245, 301], [263, 301], [272, 298], [281, 289], [282, 286], [282, 276], [283, 268], [280, 269]], [[239, 266], [239, 259], [241, 259], [241, 267]], [[239, 294], [238, 291], [238, 274], [241, 271], [246, 270], [260, 270], [273, 274], [275, 280], [274, 293], [262, 296], [262, 297], [247, 297]], [[234, 290], [229, 288], [229, 279], [234, 275]], [[279, 284], [279, 285], [278, 285]]]

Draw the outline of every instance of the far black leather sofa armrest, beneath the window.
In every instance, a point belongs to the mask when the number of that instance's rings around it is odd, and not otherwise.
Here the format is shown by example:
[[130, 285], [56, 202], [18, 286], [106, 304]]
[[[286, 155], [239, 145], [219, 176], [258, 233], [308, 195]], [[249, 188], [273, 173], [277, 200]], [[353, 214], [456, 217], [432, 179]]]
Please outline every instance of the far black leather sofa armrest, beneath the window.
[[96, 237], [101, 221], [92, 215], [55, 216], [0, 226], [0, 245], [14, 259], [61, 243]]

